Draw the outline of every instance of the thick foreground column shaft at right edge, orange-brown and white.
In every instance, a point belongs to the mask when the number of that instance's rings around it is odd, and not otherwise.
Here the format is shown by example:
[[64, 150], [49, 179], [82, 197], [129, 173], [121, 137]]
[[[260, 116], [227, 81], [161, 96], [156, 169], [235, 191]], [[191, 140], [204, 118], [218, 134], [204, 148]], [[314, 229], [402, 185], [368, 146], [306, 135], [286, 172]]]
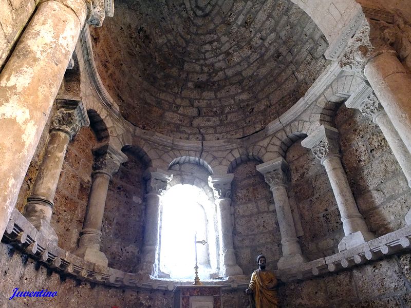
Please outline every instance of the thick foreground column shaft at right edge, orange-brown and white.
[[411, 76], [395, 53], [382, 53], [365, 66], [365, 76], [411, 153]]

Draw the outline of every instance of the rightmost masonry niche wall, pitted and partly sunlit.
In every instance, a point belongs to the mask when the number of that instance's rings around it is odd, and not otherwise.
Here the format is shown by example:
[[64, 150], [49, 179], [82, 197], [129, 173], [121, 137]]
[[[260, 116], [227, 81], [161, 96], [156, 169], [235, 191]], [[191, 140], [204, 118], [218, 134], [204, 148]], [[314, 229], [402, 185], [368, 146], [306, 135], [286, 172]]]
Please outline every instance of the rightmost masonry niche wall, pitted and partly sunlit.
[[354, 109], [335, 115], [342, 162], [360, 213], [381, 236], [405, 226], [411, 191], [381, 130]]

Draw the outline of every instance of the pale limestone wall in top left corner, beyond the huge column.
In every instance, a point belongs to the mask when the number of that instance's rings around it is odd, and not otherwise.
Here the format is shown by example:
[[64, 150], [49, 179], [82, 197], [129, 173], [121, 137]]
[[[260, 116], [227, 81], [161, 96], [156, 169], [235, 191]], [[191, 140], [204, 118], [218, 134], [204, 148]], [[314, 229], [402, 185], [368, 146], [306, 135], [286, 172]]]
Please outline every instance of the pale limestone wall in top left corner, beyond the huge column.
[[0, 2], [0, 68], [15, 41], [26, 26], [39, 0], [9, 0]]

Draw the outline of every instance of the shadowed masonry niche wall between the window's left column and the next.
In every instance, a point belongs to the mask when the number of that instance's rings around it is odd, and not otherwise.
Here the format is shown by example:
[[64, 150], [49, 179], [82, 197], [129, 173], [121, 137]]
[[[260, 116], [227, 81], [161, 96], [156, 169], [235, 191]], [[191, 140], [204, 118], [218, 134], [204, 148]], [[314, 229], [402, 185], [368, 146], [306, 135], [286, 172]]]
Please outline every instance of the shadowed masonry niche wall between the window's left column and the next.
[[110, 181], [102, 226], [101, 251], [108, 266], [137, 272], [144, 236], [143, 171], [145, 166], [132, 153]]

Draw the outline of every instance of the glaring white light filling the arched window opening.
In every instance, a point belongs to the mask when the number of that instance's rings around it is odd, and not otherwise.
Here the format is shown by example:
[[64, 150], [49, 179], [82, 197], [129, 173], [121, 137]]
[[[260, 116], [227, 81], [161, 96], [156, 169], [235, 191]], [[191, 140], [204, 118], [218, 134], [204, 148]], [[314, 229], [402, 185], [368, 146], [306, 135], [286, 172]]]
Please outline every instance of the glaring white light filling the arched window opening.
[[[196, 186], [178, 184], [165, 192], [160, 239], [163, 273], [174, 279], [194, 279], [194, 236], [197, 235], [198, 241], [209, 242], [207, 210], [210, 209], [212, 204], [207, 195]], [[197, 244], [198, 276], [202, 280], [209, 279], [212, 272], [209, 245]]]

